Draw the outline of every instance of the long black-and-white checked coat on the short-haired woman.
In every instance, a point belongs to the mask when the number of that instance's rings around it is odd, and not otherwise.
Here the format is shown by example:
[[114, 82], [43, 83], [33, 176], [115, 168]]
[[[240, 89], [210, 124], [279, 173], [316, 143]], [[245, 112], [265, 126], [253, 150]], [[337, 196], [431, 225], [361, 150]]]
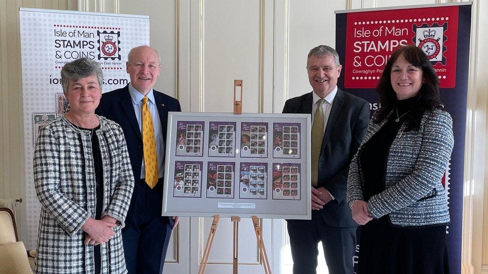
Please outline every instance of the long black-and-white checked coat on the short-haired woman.
[[[115, 235], [101, 245], [101, 273], [126, 273], [123, 227], [134, 184], [122, 129], [101, 116], [93, 132], [103, 165], [102, 216], [120, 222]], [[95, 174], [90, 132], [64, 117], [45, 126], [34, 152], [34, 187], [42, 205], [35, 273], [93, 273], [93, 246], [85, 246], [81, 230], [95, 216]]]

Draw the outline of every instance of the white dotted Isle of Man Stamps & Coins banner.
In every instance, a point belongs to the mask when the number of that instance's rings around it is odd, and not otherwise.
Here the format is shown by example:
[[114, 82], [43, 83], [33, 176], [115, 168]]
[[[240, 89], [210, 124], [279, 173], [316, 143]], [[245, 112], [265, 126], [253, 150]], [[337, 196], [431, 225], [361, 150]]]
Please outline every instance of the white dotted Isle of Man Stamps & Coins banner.
[[62, 66], [86, 57], [103, 70], [102, 91], [129, 82], [130, 48], [149, 44], [149, 16], [20, 8], [25, 195], [28, 249], [36, 246], [40, 204], [33, 187], [32, 158], [39, 129], [69, 105], [60, 84]]

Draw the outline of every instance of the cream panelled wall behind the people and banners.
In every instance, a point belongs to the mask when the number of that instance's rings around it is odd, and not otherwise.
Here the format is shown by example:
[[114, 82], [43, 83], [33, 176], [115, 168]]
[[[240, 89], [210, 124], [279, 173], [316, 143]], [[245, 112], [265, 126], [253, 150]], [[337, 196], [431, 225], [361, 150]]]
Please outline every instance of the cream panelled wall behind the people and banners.
[[[307, 51], [319, 43], [335, 44], [334, 10], [439, 2], [452, 1], [0, 0], [0, 198], [24, 196], [19, 44], [28, 41], [19, 41], [19, 6], [150, 15], [150, 43], [162, 59], [156, 89], [177, 97], [184, 111], [230, 112], [232, 80], [243, 79], [244, 112], [280, 112], [286, 98], [309, 91]], [[488, 173], [484, 168], [488, 162], [488, 19], [482, 14], [488, 14], [488, 1], [473, 1], [463, 273], [488, 273]], [[20, 206], [20, 237], [28, 225], [24, 216]], [[193, 234], [188, 227], [201, 227], [202, 222], [184, 220], [179, 238], [189, 238]], [[263, 226], [273, 232], [269, 241], [285, 241], [282, 230], [276, 229], [281, 228], [280, 222]], [[188, 241], [174, 243], [171, 260], [185, 261], [190, 256], [179, 252], [185, 245]], [[279, 264], [279, 256], [273, 258], [273, 264]]]

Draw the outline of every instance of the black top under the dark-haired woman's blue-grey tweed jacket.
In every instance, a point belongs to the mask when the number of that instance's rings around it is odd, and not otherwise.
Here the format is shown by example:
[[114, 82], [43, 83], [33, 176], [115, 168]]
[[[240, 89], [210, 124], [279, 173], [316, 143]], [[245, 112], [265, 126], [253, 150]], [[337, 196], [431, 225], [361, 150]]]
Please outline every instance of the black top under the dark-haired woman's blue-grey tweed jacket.
[[409, 111], [414, 100], [415, 98], [412, 97], [396, 101], [393, 113], [386, 123], [362, 147], [359, 164], [364, 179], [363, 198], [366, 202], [372, 196], [384, 191], [389, 148], [406, 119], [404, 114]]

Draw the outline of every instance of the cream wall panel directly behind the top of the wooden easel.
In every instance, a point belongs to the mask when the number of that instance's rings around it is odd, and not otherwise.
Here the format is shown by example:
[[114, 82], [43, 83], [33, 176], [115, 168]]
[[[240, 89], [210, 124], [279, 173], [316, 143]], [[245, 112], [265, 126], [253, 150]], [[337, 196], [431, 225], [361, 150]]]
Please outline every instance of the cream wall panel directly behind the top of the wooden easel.
[[233, 111], [233, 80], [243, 80], [242, 111], [259, 112], [260, 0], [203, 1], [204, 111]]

